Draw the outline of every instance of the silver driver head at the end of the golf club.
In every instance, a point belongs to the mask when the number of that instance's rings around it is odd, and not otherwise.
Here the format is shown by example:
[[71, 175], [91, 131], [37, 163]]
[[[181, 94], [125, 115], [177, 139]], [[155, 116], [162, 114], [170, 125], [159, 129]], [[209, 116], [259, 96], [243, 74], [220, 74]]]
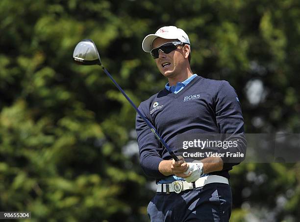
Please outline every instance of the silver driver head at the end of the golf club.
[[73, 59], [79, 65], [101, 65], [96, 44], [91, 39], [83, 39], [76, 45]]

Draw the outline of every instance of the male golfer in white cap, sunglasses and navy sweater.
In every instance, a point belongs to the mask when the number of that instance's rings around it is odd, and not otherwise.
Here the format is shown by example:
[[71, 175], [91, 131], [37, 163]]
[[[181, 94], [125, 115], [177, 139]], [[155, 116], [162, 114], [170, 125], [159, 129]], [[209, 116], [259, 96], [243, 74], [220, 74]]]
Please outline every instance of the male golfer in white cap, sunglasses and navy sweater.
[[[175, 154], [181, 154], [179, 137], [195, 133], [230, 134], [226, 140], [237, 144], [230, 152], [244, 154], [244, 122], [236, 92], [226, 81], [192, 72], [188, 35], [175, 26], [165, 26], [146, 36], [142, 48], [151, 53], [168, 83], [142, 102], [139, 110]], [[152, 222], [229, 221], [232, 195], [228, 171], [244, 158], [232, 160], [221, 147], [221, 157], [185, 161], [179, 156], [175, 161], [138, 114], [136, 131], [141, 167], [157, 182], [156, 195], [147, 209]]]

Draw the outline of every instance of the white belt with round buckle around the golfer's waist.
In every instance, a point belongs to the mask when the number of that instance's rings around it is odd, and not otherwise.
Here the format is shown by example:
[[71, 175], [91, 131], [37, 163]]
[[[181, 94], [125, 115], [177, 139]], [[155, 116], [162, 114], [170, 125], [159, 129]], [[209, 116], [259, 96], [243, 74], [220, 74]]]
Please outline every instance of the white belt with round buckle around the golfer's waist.
[[225, 177], [221, 177], [217, 175], [209, 175], [209, 176], [201, 177], [193, 183], [188, 183], [185, 180], [175, 180], [172, 183], [157, 184], [156, 192], [163, 192], [163, 193], [175, 192], [179, 194], [183, 190], [190, 190], [190, 189], [202, 187], [208, 183], [229, 184], [229, 180]]

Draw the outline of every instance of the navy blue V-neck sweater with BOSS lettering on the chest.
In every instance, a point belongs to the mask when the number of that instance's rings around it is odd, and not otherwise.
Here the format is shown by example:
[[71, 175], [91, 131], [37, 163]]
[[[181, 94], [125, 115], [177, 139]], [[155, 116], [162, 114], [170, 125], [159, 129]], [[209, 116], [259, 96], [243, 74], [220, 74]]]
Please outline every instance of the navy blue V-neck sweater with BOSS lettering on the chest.
[[[234, 133], [239, 139], [234, 149], [246, 153], [241, 106], [235, 90], [226, 81], [197, 76], [177, 94], [163, 89], [152, 95], [140, 104], [139, 110], [176, 155], [181, 154], [176, 137], [182, 133]], [[136, 132], [140, 163], [145, 174], [156, 179], [166, 178], [159, 172], [158, 165], [162, 160], [171, 159], [171, 156], [138, 114]], [[231, 163], [228, 157], [221, 158], [224, 161], [223, 170], [210, 174], [229, 178], [228, 171], [238, 162]]]

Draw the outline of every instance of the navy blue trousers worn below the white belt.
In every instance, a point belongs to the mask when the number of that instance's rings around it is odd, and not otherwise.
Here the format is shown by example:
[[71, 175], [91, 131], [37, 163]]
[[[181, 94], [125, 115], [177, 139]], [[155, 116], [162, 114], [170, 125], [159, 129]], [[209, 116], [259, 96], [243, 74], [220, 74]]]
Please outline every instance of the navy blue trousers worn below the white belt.
[[151, 222], [228, 222], [231, 207], [230, 186], [209, 183], [179, 194], [157, 192], [147, 213]]

